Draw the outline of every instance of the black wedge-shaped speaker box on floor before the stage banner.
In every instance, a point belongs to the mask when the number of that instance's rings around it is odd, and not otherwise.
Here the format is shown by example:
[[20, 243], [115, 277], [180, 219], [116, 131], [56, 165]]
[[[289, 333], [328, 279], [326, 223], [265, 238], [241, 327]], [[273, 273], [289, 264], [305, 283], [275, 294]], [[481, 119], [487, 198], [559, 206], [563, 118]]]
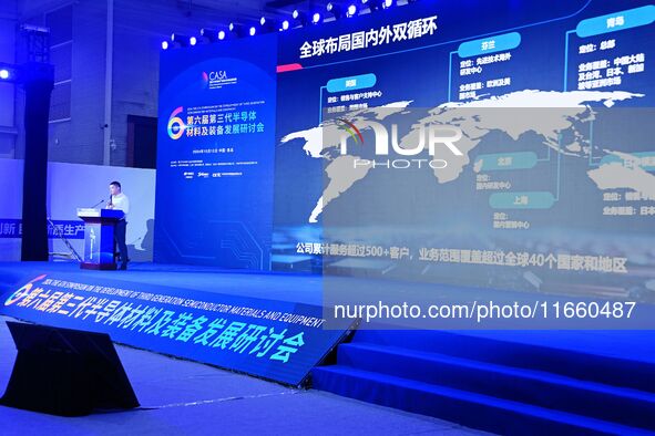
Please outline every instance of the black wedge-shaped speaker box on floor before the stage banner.
[[60, 416], [139, 407], [108, 334], [7, 325], [18, 355], [1, 405]]

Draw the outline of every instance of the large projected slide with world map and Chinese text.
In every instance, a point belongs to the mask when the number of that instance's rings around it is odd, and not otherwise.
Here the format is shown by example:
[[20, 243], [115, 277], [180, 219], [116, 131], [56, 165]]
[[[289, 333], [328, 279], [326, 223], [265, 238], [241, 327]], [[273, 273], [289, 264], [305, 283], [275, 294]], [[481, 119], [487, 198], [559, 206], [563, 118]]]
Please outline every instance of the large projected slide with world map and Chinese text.
[[654, 21], [463, 1], [280, 33], [273, 269], [655, 293]]

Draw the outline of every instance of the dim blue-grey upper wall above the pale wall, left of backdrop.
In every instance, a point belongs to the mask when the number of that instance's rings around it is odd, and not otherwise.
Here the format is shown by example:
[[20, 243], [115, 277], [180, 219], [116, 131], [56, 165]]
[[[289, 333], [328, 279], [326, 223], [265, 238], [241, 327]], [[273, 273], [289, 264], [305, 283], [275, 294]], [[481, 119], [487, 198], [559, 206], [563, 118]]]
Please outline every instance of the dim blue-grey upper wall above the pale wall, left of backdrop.
[[[72, 32], [71, 59], [60, 59], [55, 55], [58, 50], [53, 50], [51, 58], [55, 64], [55, 76], [62, 70], [70, 70], [70, 120], [50, 124], [49, 158], [52, 162], [79, 164], [103, 163], [108, 3], [113, 3], [114, 13], [111, 21], [112, 116], [106, 129], [111, 135], [110, 164], [120, 166], [126, 165], [127, 160], [127, 116], [157, 116], [162, 41], [173, 32], [197, 35], [201, 28], [226, 27], [233, 19], [231, 14], [204, 9], [195, 2], [191, 2], [193, 8], [192, 13], [188, 13], [190, 2], [180, 0], [21, 0], [18, 4], [17, 0], [0, 0], [0, 12], [7, 1], [13, 4], [12, 10], [17, 11], [21, 22], [48, 25], [53, 31], [61, 31], [64, 23], [57, 20], [47, 22], [44, 15], [60, 8], [72, 8], [72, 23], [65, 23]], [[222, 3], [218, 2], [216, 7], [222, 10], [233, 9], [229, 2]], [[256, 6], [249, 9], [256, 9]], [[13, 55], [16, 22], [4, 28], [7, 38], [11, 38], [4, 45]], [[3, 38], [0, 21], [0, 53]], [[21, 41], [20, 37], [18, 41]], [[6, 100], [10, 104], [13, 89], [7, 95]], [[2, 98], [0, 90], [0, 103], [3, 103]], [[19, 135], [23, 124], [21, 98], [21, 89], [18, 87], [16, 124]], [[18, 136], [18, 141], [14, 139], [16, 134], [4, 136], [8, 139], [3, 139], [0, 134], [0, 157], [24, 157], [22, 136]], [[9, 145], [3, 145], [3, 141]], [[139, 144], [135, 146], [139, 147]]]

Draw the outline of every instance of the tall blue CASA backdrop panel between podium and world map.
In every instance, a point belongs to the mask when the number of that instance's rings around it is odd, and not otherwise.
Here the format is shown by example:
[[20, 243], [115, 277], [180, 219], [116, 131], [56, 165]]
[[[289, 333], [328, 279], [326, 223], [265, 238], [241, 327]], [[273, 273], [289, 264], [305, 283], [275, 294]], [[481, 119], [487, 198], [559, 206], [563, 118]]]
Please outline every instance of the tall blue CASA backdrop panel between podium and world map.
[[268, 269], [276, 41], [162, 54], [155, 261]]

